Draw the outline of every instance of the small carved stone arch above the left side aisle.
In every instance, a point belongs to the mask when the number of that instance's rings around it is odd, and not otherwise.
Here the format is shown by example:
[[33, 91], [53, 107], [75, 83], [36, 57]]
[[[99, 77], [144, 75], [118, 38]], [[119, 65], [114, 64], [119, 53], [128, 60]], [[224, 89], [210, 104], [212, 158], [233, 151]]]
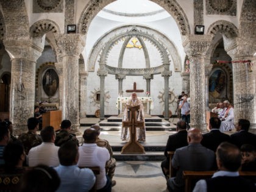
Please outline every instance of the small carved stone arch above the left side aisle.
[[32, 24], [30, 27], [30, 37], [43, 37], [44, 34], [52, 32], [53, 34], [60, 34], [60, 27], [51, 20], [40, 20]]

